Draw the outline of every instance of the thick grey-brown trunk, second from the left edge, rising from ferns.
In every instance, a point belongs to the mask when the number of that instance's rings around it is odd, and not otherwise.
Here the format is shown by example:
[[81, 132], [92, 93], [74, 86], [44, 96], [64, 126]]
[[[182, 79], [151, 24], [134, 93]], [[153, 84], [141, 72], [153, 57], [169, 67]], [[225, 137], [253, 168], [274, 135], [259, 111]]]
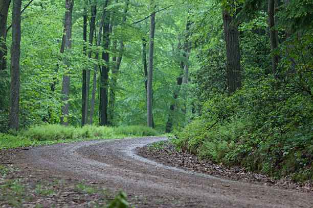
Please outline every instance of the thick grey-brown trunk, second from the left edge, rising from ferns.
[[9, 127], [16, 131], [19, 124], [20, 7], [21, 0], [13, 0]]

